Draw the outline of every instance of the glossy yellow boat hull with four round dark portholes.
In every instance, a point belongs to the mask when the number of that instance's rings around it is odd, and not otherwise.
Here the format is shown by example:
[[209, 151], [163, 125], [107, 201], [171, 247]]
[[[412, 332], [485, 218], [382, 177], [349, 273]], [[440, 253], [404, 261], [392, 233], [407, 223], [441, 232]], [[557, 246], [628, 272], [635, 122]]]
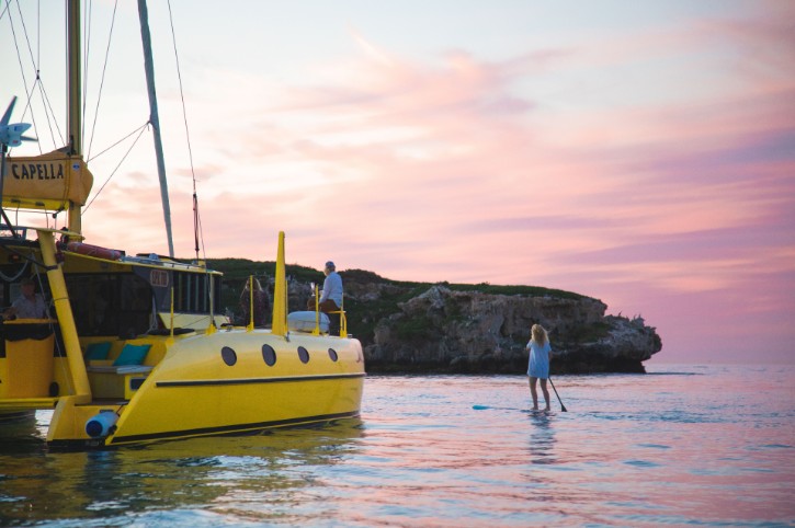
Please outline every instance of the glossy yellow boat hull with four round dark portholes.
[[[128, 402], [59, 402], [47, 440], [123, 446], [328, 423], [359, 415], [364, 376], [353, 338], [243, 329], [193, 335], [167, 348]], [[101, 411], [118, 418], [111, 435], [92, 438], [86, 423]]]

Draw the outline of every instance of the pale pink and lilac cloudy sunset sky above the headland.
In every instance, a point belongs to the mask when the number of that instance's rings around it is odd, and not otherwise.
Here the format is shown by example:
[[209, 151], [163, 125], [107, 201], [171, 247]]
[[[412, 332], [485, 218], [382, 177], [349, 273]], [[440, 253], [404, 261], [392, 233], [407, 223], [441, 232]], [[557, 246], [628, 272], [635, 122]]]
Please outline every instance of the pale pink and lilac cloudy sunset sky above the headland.
[[[287, 260], [318, 268], [599, 298], [657, 328], [654, 361], [795, 361], [795, 3], [172, 5], [206, 256], [273, 260], [284, 230]], [[114, 48], [139, 56], [120, 9]], [[174, 242], [192, 256], [163, 9]], [[139, 62], [109, 67], [92, 157], [147, 119]], [[87, 211], [89, 242], [167, 252], [143, 144]], [[122, 156], [91, 162], [95, 191]]]

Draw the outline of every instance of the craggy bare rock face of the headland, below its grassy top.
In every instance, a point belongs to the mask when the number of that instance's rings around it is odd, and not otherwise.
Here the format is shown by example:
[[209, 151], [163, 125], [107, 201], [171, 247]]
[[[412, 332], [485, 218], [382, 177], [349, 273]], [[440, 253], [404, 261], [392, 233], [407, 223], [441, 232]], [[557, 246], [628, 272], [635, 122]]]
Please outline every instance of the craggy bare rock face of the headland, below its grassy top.
[[643, 319], [606, 315], [587, 297], [564, 299], [452, 291], [432, 286], [398, 305], [365, 346], [371, 370], [523, 372], [530, 326], [549, 332], [553, 372], [643, 372], [661, 349]]

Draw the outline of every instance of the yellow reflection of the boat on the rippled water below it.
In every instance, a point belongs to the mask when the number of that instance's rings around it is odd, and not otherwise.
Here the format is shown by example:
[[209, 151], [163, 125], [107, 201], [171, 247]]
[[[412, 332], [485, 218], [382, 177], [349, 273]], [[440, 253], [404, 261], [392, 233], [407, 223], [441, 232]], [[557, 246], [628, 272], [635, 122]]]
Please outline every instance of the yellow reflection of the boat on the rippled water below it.
[[103, 451], [48, 452], [41, 438], [0, 446], [0, 525], [223, 509], [227, 502], [274, 492], [289, 501], [307, 485], [317, 487], [323, 467], [359, 450], [361, 425], [347, 420], [325, 428]]

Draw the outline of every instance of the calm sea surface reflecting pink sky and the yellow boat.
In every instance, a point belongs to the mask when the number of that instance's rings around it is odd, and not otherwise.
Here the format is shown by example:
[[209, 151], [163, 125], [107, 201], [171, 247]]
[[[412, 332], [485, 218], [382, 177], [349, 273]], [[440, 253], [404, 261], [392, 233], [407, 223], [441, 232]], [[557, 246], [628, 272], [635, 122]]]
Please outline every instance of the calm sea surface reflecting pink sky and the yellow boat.
[[0, 526], [795, 526], [795, 367], [648, 369], [554, 378], [549, 415], [522, 376], [373, 376], [361, 421], [115, 451], [39, 413]]

